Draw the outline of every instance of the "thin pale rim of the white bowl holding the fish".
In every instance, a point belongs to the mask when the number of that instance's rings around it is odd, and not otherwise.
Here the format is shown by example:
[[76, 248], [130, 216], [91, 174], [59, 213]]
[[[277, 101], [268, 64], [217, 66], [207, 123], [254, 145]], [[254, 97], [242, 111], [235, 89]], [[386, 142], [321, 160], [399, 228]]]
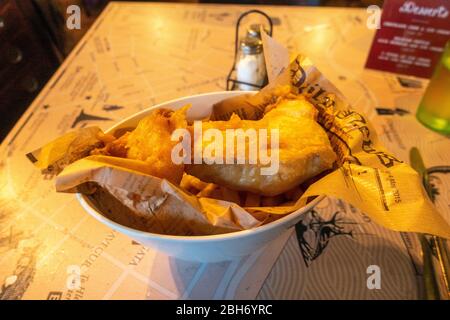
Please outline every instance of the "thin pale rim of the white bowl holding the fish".
[[[137, 113], [134, 113], [132, 115], [130, 115], [129, 117], [121, 120], [120, 122], [116, 123], [115, 125], [113, 125], [111, 128], [107, 129], [105, 132], [111, 132], [113, 130], [115, 130], [117, 127], [119, 127], [122, 123], [127, 122], [131, 119], [134, 119], [136, 117], [138, 117], [141, 114], [146, 114], [149, 111], [153, 110], [153, 109], [157, 109], [159, 108], [161, 105], [167, 105], [170, 103], [175, 103], [178, 102], [180, 100], [185, 100], [188, 98], [194, 98], [194, 97], [201, 97], [201, 96], [208, 96], [208, 95], [218, 95], [218, 94], [224, 94], [227, 93], [229, 95], [236, 95], [238, 96], [239, 93], [241, 92], [242, 94], [246, 94], [246, 93], [255, 93], [256, 91], [214, 91], [214, 92], [208, 92], [208, 93], [202, 93], [202, 94], [196, 94], [196, 95], [192, 95], [192, 96], [187, 96], [187, 97], [182, 97], [182, 98], [177, 98], [177, 99], [172, 99], [166, 102], [162, 102], [159, 103], [157, 105], [151, 106], [149, 108], [146, 108], [144, 110], [141, 110]], [[231, 94], [233, 93], [233, 94]], [[235, 94], [234, 94], [235, 93]], [[308, 211], [310, 211], [312, 208], [314, 208], [320, 201], [322, 201], [325, 198], [325, 195], [318, 195], [316, 198], [314, 198], [313, 200], [311, 200], [308, 204], [306, 204], [305, 206], [299, 208], [298, 210], [285, 215], [284, 217], [272, 221], [268, 224], [253, 228], [253, 229], [246, 229], [246, 230], [239, 230], [239, 231], [235, 231], [235, 232], [229, 232], [229, 233], [221, 233], [221, 234], [214, 234], [214, 235], [201, 235], [201, 236], [176, 236], [176, 235], [166, 235], [166, 234], [159, 234], [159, 233], [152, 233], [152, 232], [148, 232], [148, 231], [142, 231], [142, 230], [138, 230], [138, 229], [134, 229], [125, 225], [122, 225], [120, 223], [117, 223], [109, 218], [107, 218], [106, 216], [104, 216], [103, 214], [101, 214], [99, 211], [97, 211], [93, 205], [91, 205], [91, 200], [89, 199], [89, 197], [87, 195], [81, 194], [81, 193], [77, 193], [76, 197], [78, 199], [78, 201], [80, 202], [81, 206], [94, 218], [96, 218], [97, 220], [99, 220], [100, 222], [105, 223], [106, 225], [110, 226], [113, 229], [116, 230], [124, 230], [126, 231], [127, 234], [131, 235], [131, 236], [136, 236], [138, 238], [159, 238], [159, 239], [164, 239], [164, 240], [168, 240], [168, 241], [180, 241], [182, 240], [183, 242], [202, 242], [203, 240], [209, 240], [209, 241], [222, 241], [225, 239], [239, 239], [239, 238], [243, 238], [246, 236], [249, 236], [251, 234], [257, 234], [257, 233], [261, 233], [264, 232], [268, 229], [273, 229], [278, 225], [281, 225], [289, 220], [294, 220], [298, 215], [306, 213]]]

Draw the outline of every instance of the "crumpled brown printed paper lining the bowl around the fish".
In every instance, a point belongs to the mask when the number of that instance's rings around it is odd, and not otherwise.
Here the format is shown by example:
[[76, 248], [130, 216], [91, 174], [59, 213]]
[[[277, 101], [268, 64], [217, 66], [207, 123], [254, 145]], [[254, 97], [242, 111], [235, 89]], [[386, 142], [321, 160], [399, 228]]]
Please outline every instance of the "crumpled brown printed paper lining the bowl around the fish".
[[[226, 119], [233, 111], [245, 111], [249, 119], [255, 119], [280, 94], [308, 97], [319, 110], [318, 122], [338, 155], [338, 168], [312, 183], [293, 205], [242, 208], [233, 202], [191, 195], [164, 179], [149, 176], [141, 161], [86, 157], [82, 150], [97, 143], [98, 129], [87, 131], [92, 137], [85, 136], [84, 145], [77, 138], [78, 131], [47, 144], [29, 158], [55, 174], [59, 173], [55, 168], [71, 162], [56, 178], [57, 191], [91, 194], [106, 216], [156, 233], [206, 235], [251, 229], [302, 208], [310, 197], [329, 195], [363, 210], [389, 229], [450, 238], [450, 226], [427, 198], [419, 175], [380, 145], [367, 118], [349, 105], [307, 57], [298, 55], [289, 64], [285, 48], [265, 34], [263, 43], [265, 55], [272, 57], [266, 59], [272, 81], [256, 95], [216, 104], [211, 118]], [[276, 52], [280, 50], [283, 52]], [[82, 130], [86, 135], [86, 129]], [[72, 145], [71, 141], [77, 142], [76, 148], [61, 152]]]

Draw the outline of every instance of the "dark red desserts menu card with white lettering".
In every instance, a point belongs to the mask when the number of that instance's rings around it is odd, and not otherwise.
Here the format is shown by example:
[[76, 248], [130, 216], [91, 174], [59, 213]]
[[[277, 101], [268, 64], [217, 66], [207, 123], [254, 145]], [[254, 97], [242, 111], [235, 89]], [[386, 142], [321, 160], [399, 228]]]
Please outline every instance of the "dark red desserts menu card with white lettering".
[[366, 68], [430, 78], [450, 39], [450, 0], [385, 0]]

